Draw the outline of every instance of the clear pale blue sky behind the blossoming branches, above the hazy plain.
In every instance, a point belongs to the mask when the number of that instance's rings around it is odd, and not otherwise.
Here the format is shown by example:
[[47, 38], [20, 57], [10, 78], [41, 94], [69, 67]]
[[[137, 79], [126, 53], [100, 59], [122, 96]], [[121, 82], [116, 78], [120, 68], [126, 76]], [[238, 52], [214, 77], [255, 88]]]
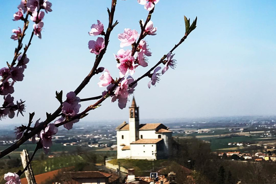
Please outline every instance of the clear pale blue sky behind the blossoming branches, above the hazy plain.
[[[12, 21], [19, 2], [1, 1], [1, 67], [12, 60], [17, 46], [10, 39], [11, 30], [23, 25], [21, 21]], [[26, 100], [26, 116], [7, 118], [3, 123], [27, 122], [27, 113], [34, 111], [36, 119], [44, 119], [46, 111], [53, 112], [59, 105], [55, 91], [74, 91], [93, 66], [95, 55], [89, 52], [88, 41], [96, 37], [89, 36], [88, 31], [97, 19], [107, 27], [106, 7], [110, 7], [111, 1], [51, 2], [53, 12], [45, 15], [42, 39], [34, 37], [28, 50], [30, 62], [24, 80], [15, 84], [13, 96]], [[175, 50], [176, 69], [169, 69], [151, 89], [147, 88], [149, 78], [139, 82], [134, 96], [140, 106], [140, 118], [275, 115], [275, 8], [273, 0], [160, 0], [152, 16], [157, 35], [146, 37], [153, 53], [149, 66], [183, 37], [183, 15], [192, 20], [197, 16], [198, 23]], [[110, 70], [112, 77], [118, 77], [113, 56], [120, 49], [117, 35], [124, 28], [139, 32], [139, 20], [145, 20], [147, 13], [136, 0], [118, 0], [115, 20], [119, 24], [100, 64]], [[31, 28], [32, 23], [24, 43]], [[147, 69], [138, 68], [133, 77], [139, 77]], [[98, 81], [99, 75], [79, 94], [80, 98], [100, 95], [104, 88], [97, 86]], [[81, 110], [90, 103], [82, 103]], [[128, 109], [120, 110], [117, 103], [107, 99], [85, 121], [123, 118], [127, 120]]]

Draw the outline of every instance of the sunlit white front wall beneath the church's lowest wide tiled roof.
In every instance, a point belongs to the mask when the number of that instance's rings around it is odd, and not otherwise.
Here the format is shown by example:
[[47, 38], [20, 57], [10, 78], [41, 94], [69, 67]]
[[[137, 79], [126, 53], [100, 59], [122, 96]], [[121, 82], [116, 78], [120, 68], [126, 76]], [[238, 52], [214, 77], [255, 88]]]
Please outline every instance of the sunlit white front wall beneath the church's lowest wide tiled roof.
[[131, 159], [156, 159], [156, 144], [131, 144]]

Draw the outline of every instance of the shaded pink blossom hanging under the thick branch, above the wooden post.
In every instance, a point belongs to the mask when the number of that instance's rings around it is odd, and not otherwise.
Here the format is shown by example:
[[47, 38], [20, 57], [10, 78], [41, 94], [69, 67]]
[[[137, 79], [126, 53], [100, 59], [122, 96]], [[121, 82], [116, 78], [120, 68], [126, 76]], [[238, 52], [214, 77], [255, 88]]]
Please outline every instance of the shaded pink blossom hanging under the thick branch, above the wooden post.
[[58, 132], [58, 128], [55, 127], [55, 124], [50, 123], [45, 130], [40, 132], [40, 138], [42, 139], [42, 145], [44, 152], [47, 154], [50, 147], [52, 146], [52, 135], [55, 135]]

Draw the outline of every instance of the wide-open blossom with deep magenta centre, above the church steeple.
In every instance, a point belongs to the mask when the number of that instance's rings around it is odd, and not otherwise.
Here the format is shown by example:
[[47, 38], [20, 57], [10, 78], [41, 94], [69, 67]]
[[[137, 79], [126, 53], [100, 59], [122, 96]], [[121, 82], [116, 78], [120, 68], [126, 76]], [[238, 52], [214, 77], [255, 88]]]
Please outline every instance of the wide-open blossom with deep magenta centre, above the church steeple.
[[[122, 52], [123, 53], [123, 52]], [[126, 74], [134, 74], [135, 68], [134, 68], [134, 57], [129, 55], [126, 55], [126, 53], [128, 53], [128, 51], [124, 52], [124, 54], [122, 56], [124, 56], [123, 58], [119, 59], [119, 62], [117, 64], [117, 68], [120, 70], [119, 74], [120, 77], [124, 77]]]

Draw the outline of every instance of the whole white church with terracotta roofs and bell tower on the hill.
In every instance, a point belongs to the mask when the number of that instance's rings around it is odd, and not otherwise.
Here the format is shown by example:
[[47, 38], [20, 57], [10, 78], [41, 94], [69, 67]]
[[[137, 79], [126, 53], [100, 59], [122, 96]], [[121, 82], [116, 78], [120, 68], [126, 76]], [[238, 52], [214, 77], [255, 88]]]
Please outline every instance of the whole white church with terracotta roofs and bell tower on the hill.
[[164, 159], [170, 155], [172, 131], [162, 123], [139, 124], [139, 107], [133, 97], [129, 123], [116, 127], [117, 158]]

